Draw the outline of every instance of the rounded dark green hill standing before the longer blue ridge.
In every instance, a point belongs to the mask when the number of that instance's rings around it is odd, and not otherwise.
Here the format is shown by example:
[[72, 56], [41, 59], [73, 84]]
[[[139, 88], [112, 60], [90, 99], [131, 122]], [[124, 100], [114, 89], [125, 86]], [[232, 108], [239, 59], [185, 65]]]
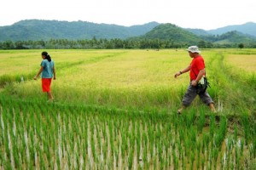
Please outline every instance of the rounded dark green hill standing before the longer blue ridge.
[[172, 24], [161, 24], [148, 31], [140, 38], [171, 40], [177, 43], [197, 43], [202, 41], [201, 37]]

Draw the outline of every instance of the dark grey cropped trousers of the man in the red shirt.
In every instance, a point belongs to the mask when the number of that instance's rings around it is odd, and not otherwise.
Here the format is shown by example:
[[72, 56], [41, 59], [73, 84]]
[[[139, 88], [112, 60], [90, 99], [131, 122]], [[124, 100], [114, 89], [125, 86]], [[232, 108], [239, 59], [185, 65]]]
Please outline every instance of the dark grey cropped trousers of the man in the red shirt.
[[[195, 99], [196, 95], [197, 95], [196, 88], [189, 84], [186, 94], [184, 94], [183, 96], [183, 105], [189, 106], [192, 103], [192, 101]], [[207, 93], [207, 91], [203, 94], [198, 94], [198, 95], [205, 104], [210, 105], [214, 103], [212, 101], [211, 96]]]

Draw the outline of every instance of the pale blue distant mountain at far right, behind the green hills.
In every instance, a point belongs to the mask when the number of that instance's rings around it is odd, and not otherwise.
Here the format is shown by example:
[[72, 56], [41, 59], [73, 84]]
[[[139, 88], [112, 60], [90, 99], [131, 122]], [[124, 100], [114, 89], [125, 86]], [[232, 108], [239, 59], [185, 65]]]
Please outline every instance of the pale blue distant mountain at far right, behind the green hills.
[[214, 35], [221, 35], [228, 31], [240, 31], [243, 34], [248, 34], [256, 37], [256, 23], [247, 22], [243, 25], [224, 26], [215, 30], [209, 30], [207, 32]]

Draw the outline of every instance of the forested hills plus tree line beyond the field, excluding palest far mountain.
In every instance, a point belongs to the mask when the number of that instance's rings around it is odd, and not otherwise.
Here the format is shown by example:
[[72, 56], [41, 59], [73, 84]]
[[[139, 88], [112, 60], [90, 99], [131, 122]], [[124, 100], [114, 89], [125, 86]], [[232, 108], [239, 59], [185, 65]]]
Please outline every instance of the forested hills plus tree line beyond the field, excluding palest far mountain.
[[212, 35], [199, 29], [150, 22], [143, 26], [116, 26], [90, 22], [21, 20], [0, 27], [0, 49], [34, 48], [255, 48], [254, 37], [238, 31]]

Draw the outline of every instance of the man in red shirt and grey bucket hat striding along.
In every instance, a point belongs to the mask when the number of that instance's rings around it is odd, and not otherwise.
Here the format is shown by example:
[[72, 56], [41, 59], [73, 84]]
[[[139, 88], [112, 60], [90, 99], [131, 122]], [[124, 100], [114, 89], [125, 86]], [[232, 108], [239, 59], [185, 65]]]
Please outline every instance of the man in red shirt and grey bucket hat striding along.
[[[182, 107], [179, 110], [177, 110], [178, 114], [181, 114], [183, 109], [185, 107], [188, 107], [192, 103], [192, 101], [195, 99], [196, 95], [198, 94], [197, 87], [196, 87], [197, 83], [201, 80], [202, 77], [206, 75], [205, 61], [201, 57], [201, 54], [200, 54], [201, 52], [199, 51], [198, 47], [190, 46], [188, 48], [188, 52], [189, 52], [189, 56], [193, 58], [190, 65], [187, 68], [183, 69], [183, 71], [177, 72], [174, 76], [175, 78], [177, 78], [181, 74], [189, 71], [189, 77], [190, 77], [189, 88], [187, 89], [187, 92], [183, 96]], [[205, 104], [209, 105], [211, 111], [216, 112], [215, 107], [213, 105], [214, 103], [212, 101], [212, 98], [207, 93], [207, 91], [205, 91], [204, 93], [199, 93], [198, 95]]]

